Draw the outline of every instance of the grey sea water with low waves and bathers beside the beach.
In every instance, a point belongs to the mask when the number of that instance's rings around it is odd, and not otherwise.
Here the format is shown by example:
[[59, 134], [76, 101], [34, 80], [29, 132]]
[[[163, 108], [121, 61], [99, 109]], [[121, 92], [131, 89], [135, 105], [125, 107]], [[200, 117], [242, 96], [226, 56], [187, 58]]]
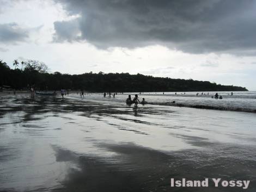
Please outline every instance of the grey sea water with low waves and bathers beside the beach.
[[[209, 95], [208, 95], [209, 93]], [[86, 95], [87, 99], [97, 100], [97, 101], [118, 101], [125, 102], [128, 95], [132, 98], [135, 94], [138, 94], [139, 100], [145, 98], [149, 104], [158, 104], [164, 106], [180, 106], [180, 107], [194, 107], [194, 108], [205, 108], [205, 109], [219, 109], [219, 110], [235, 110], [242, 112], [256, 112], [256, 91], [237, 91], [233, 92], [218, 92], [219, 96], [223, 99], [215, 99], [216, 92], [143, 92], [139, 94], [138, 92], [131, 93], [118, 93], [113, 98], [113, 93], [109, 98], [103, 98], [102, 94], [88, 93]], [[205, 94], [205, 95], [204, 95]], [[79, 97], [77, 94], [73, 94], [74, 97]], [[175, 103], [173, 103], [173, 101]]]

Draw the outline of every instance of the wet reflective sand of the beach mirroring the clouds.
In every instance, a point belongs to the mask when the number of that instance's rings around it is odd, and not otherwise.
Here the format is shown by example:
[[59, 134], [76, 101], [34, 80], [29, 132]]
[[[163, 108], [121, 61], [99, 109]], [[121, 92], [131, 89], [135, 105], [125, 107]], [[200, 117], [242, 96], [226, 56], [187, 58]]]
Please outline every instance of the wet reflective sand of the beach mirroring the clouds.
[[0, 191], [243, 190], [170, 178], [256, 190], [255, 114], [26, 94], [0, 104]]

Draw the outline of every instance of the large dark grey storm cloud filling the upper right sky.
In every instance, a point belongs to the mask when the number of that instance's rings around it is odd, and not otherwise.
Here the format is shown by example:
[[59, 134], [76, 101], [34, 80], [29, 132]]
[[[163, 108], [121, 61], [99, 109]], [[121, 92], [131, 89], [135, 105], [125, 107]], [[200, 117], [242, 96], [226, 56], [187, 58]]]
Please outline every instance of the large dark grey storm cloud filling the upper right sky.
[[256, 48], [252, 0], [56, 1], [81, 17], [55, 22], [55, 41], [86, 40], [100, 48], [160, 44], [193, 53]]

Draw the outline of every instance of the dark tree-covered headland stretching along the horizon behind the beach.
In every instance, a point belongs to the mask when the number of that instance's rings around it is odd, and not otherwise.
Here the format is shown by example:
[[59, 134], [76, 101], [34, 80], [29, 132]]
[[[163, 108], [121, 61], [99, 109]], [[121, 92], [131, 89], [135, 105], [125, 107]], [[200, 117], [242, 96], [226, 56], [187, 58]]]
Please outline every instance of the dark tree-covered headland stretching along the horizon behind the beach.
[[14, 60], [15, 69], [0, 60], [0, 86], [26, 89], [35, 85], [38, 90], [86, 90], [95, 92], [146, 92], [146, 91], [247, 91], [233, 85], [220, 85], [207, 81], [172, 79], [129, 73], [83, 73], [69, 75], [49, 73], [48, 67], [39, 61], [28, 60], [19, 63]]

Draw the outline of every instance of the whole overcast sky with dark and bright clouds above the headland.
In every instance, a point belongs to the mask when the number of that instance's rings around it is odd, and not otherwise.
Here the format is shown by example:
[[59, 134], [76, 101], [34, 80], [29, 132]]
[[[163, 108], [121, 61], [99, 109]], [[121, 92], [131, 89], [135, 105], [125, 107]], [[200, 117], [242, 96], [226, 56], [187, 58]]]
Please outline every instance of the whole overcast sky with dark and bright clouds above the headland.
[[0, 0], [0, 59], [256, 90], [256, 0]]

